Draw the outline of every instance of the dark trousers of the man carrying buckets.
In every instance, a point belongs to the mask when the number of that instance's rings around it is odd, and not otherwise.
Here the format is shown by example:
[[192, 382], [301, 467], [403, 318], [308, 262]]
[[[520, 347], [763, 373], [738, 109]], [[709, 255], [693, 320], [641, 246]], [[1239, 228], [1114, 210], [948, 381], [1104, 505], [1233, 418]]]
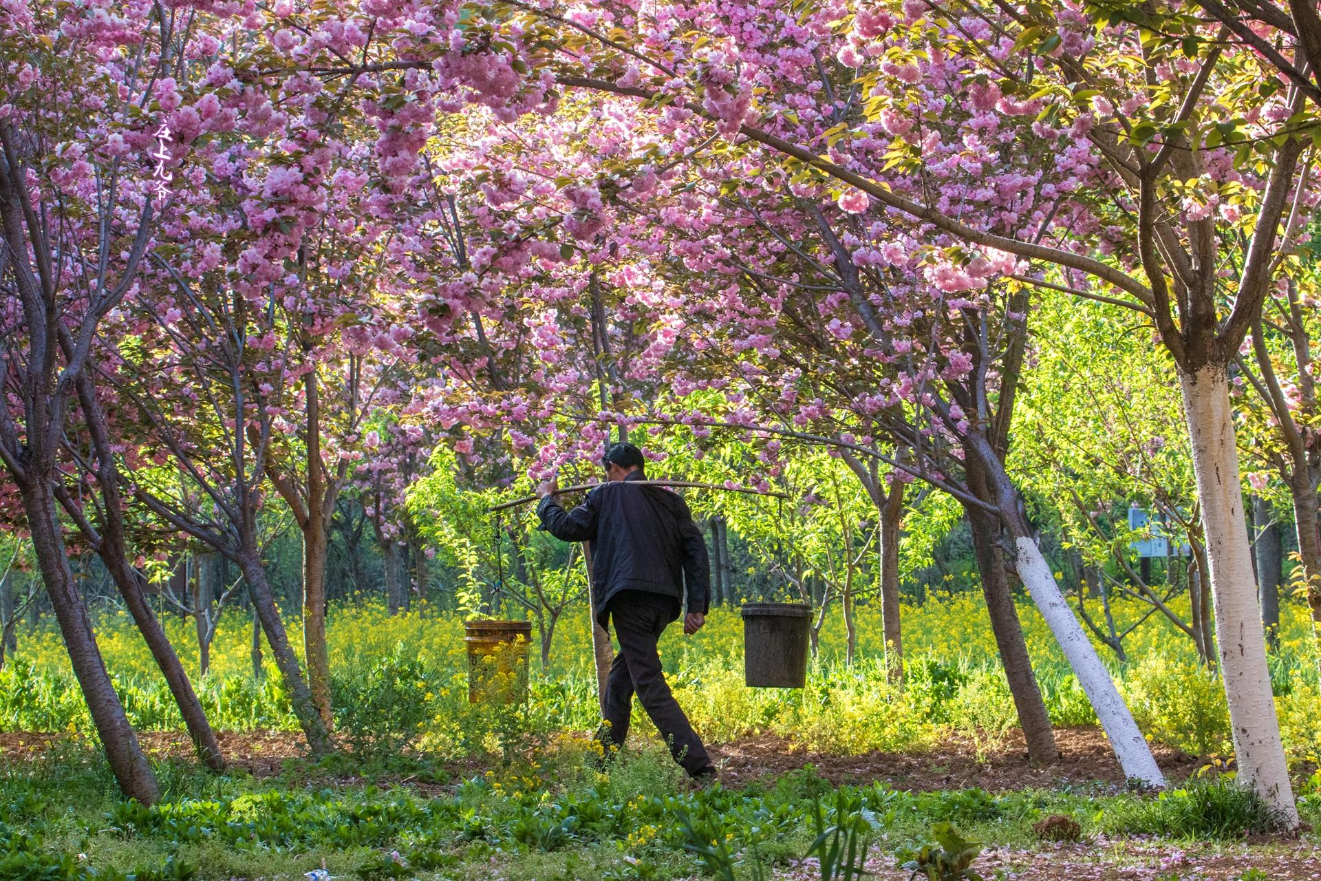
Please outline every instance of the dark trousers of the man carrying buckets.
[[633, 692], [637, 692], [660, 737], [670, 744], [675, 761], [690, 774], [709, 769], [707, 748], [670, 692], [657, 654], [660, 634], [679, 617], [679, 601], [646, 590], [621, 590], [606, 608], [620, 639], [620, 654], [610, 664], [605, 689], [605, 720], [610, 722], [604, 737], [606, 746], [622, 746], [629, 736]]

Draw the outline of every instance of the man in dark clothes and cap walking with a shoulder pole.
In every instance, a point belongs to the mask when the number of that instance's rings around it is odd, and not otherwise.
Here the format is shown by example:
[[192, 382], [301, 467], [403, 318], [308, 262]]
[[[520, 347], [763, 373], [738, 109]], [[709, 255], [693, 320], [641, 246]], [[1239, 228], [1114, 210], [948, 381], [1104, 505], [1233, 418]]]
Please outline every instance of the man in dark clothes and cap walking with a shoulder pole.
[[708, 778], [716, 769], [670, 692], [657, 654], [660, 634], [679, 617], [684, 586], [688, 613], [683, 631], [692, 635], [705, 623], [711, 596], [707, 543], [678, 493], [659, 486], [629, 486], [646, 479], [642, 464], [642, 450], [637, 446], [614, 444], [601, 460], [605, 483], [565, 511], [555, 499], [557, 482], [546, 481], [536, 489], [542, 497], [536, 514], [540, 528], [555, 538], [589, 542], [596, 618], [602, 627], [614, 619], [620, 654], [606, 682], [609, 728], [600, 734], [606, 754], [622, 746], [629, 734], [637, 692], [675, 761], [692, 777]]

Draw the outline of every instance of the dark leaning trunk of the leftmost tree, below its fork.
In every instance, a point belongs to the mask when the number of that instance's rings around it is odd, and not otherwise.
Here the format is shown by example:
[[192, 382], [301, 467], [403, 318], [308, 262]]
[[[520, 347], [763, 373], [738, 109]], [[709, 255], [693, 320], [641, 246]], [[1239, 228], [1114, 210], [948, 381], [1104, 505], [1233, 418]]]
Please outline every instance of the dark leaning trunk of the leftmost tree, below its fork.
[[59, 633], [69, 649], [74, 676], [82, 687], [87, 709], [119, 789], [124, 798], [136, 798], [143, 804], [151, 804], [160, 798], [160, 786], [137, 742], [137, 733], [128, 724], [124, 704], [110, 680], [106, 662], [96, 646], [87, 609], [78, 596], [63, 536], [59, 534], [52, 482], [45, 479], [46, 477], [29, 476], [30, 482], [21, 487], [22, 506], [32, 532], [33, 556], [37, 559], [41, 579], [50, 596]]

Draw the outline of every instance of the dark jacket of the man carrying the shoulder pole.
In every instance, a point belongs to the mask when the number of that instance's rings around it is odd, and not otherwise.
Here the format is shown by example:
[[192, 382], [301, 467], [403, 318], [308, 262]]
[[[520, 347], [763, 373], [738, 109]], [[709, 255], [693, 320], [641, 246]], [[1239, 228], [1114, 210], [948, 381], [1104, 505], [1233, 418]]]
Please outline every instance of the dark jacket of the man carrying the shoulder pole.
[[630, 472], [622, 481], [593, 487], [587, 499], [565, 511], [553, 495], [536, 506], [542, 528], [564, 542], [588, 542], [592, 551], [592, 602], [606, 626], [606, 605], [620, 590], [647, 590], [678, 601], [688, 586], [688, 612], [707, 614], [711, 563], [688, 503]]

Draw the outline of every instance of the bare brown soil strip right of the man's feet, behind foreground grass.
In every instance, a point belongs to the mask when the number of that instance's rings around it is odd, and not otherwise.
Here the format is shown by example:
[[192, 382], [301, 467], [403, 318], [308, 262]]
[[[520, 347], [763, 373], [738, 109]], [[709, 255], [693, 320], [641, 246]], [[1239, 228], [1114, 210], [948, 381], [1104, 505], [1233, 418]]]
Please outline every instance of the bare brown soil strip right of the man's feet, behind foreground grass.
[[[757, 778], [773, 778], [786, 771], [812, 765], [832, 783], [884, 781], [894, 789], [947, 790], [982, 787], [987, 791], [1020, 789], [1062, 789], [1106, 783], [1124, 785], [1124, 774], [1115, 761], [1110, 741], [1099, 728], [1061, 728], [1055, 730], [1059, 761], [1033, 765], [1022, 733], [1015, 730], [1004, 745], [978, 761], [972, 744], [951, 736], [930, 752], [864, 753], [834, 756], [802, 749], [773, 734], [741, 738], [716, 745], [712, 758], [721, 766], [727, 786], [738, 786]], [[1152, 752], [1161, 770], [1172, 779], [1182, 779], [1202, 762], [1186, 753], [1153, 744]]]

